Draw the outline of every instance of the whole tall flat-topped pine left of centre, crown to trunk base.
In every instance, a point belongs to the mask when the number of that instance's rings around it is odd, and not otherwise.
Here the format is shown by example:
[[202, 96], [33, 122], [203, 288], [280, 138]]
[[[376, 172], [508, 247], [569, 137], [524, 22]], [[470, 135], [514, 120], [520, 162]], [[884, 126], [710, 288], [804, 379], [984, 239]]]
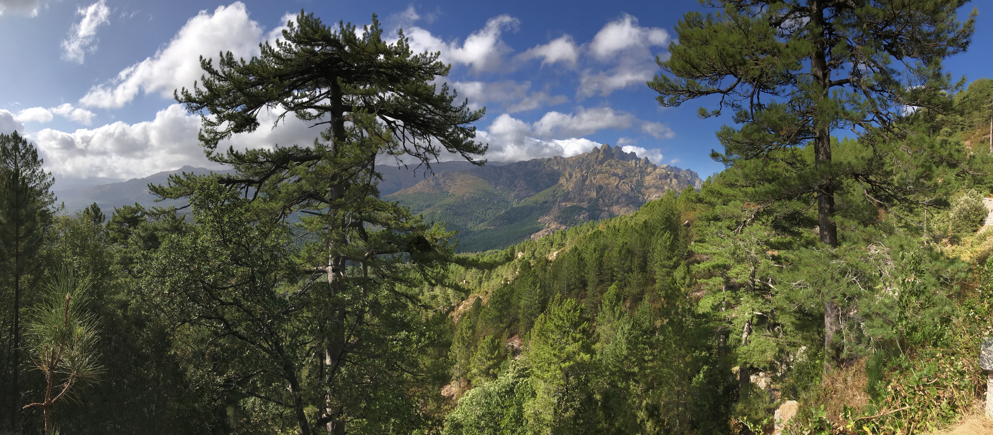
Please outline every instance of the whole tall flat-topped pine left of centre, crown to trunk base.
[[[393, 283], [419, 285], [408, 266], [423, 272], [420, 277], [440, 279], [439, 267], [452, 259], [445, 241], [451, 234], [378, 199], [376, 160], [429, 166], [450, 153], [482, 165], [474, 159], [486, 151], [469, 125], [483, 111], [468, 109], [465, 101], [455, 104], [446, 84], [433, 84], [449, 71], [439, 54], [413, 53], [402, 31], [393, 43], [382, 33], [374, 16], [359, 31], [344, 23], [329, 27], [301, 12], [282, 40], [261, 46], [258, 58], [245, 62], [227, 53], [216, 64], [202, 59], [202, 82], [177, 92], [177, 99], [203, 114], [200, 139], [209, 158], [233, 166], [235, 174], [174, 177], [169, 187], [152, 187], [160, 196], [179, 198], [216, 181], [251, 197], [259, 217], [300, 217], [313, 235], [301, 255], [327, 277], [323, 301], [330, 314], [315, 372], [324, 376], [319, 387], [330, 388], [318, 424], [335, 434], [345, 433], [346, 424], [357, 421], [351, 413], [360, 412], [336, 388], [342, 376], [355, 372], [353, 362], [367, 361], [352, 357], [358, 348], [350, 342], [350, 325], [374, 324], [368, 316], [387, 315], [361, 305], [365, 292]], [[327, 128], [309, 146], [217, 151], [221, 141], [258, 128], [261, 110]]]

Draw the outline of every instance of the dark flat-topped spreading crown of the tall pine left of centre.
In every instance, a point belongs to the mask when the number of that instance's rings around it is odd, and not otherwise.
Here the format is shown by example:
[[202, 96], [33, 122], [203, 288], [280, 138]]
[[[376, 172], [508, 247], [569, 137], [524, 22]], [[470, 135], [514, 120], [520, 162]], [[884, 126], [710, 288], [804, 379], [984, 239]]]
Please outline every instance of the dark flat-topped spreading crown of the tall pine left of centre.
[[[335, 29], [303, 12], [288, 26], [282, 41], [261, 46], [259, 58], [245, 62], [228, 52], [217, 67], [202, 58], [203, 87], [195, 83], [192, 91], [176, 94], [188, 109], [204, 114], [200, 140], [208, 155], [239, 171], [240, 179], [226, 183], [258, 187], [272, 177], [281, 179], [291, 165], [313, 167], [325, 159], [344, 159], [336, 162], [342, 169], [361, 170], [381, 153], [408, 155], [429, 165], [442, 152], [470, 161], [486, 152], [473, 141], [476, 127], [468, 125], [484, 110], [469, 110], [467, 101], [455, 105], [456, 92], [432, 83], [449, 72], [438, 53], [414, 54], [402, 31], [388, 43], [375, 16], [360, 35], [351, 24]], [[292, 112], [314, 125], [328, 125], [329, 144], [215, 152], [223, 139], [258, 128], [263, 109], [277, 111], [276, 122]], [[364, 145], [358, 155], [346, 156], [350, 141]]]

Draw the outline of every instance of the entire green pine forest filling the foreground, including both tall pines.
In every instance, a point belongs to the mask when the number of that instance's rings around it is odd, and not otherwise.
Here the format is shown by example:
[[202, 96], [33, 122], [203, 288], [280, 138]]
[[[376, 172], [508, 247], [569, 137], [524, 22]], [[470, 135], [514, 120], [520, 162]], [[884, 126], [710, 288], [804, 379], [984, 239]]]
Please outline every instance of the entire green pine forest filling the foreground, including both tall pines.
[[[438, 54], [374, 17], [301, 13], [258, 58], [202, 60], [176, 97], [232, 171], [149, 187], [180, 209], [67, 213], [34, 144], [0, 135], [0, 433], [910, 435], [974, 419], [993, 80], [941, 68], [970, 43], [964, 3], [707, 2], [644, 97], [733, 112], [724, 171], [501, 250], [456, 253], [445, 222], [380, 199], [382, 156], [485, 165], [487, 147], [483, 109], [436, 84]], [[324, 130], [224, 149], [266, 109]]]

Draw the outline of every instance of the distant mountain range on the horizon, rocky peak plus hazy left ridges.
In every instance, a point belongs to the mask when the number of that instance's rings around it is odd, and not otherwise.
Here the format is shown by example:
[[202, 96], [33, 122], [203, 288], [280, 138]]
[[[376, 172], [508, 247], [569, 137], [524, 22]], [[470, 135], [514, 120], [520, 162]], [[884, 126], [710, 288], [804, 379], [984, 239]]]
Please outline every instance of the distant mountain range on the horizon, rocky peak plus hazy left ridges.
[[[690, 170], [655, 165], [621, 147], [604, 145], [572, 157], [488, 162], [439, 162], [424, 167], [379, 165], [383, 199], [410, 207], [427, 220], [459, 230], [459, 250], [503, 248], [588, 220], [629, 215], [666, 191], [699, 189], [702, 180]], [[133, 205], [183, 206], [155, 202], [148, 185], [165, 184], [172, 174], [198, 175], [228, 170], [184, 166], [141, 179], [55, 192], [67, 211], [96, 203], [109, 215]]]

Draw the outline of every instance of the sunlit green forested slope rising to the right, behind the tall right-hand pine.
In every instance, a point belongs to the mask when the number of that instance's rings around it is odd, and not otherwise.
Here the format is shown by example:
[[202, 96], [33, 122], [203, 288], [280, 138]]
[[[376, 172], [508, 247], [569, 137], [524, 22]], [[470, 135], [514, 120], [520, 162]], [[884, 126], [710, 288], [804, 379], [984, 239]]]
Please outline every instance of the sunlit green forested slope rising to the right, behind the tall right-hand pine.
[[972, 412], [993, 332], [993, 155], [967, 141], [987, 140], [991, 85], [956, 95], [966, 114], [933, 118], [942, 129], [917, 120], [919, 152], [947, 162], [929, 170], [936, 206], [867, 208], [856, 184], [836, 249], [811, 199], [750, 204], [753, 168], [736, 164], [631, 216], [479, 254], [501, 265], [456, 272], [471, 296], [445, 433], [770, 433], [789, 400], [788, 433], [924, 433]]

